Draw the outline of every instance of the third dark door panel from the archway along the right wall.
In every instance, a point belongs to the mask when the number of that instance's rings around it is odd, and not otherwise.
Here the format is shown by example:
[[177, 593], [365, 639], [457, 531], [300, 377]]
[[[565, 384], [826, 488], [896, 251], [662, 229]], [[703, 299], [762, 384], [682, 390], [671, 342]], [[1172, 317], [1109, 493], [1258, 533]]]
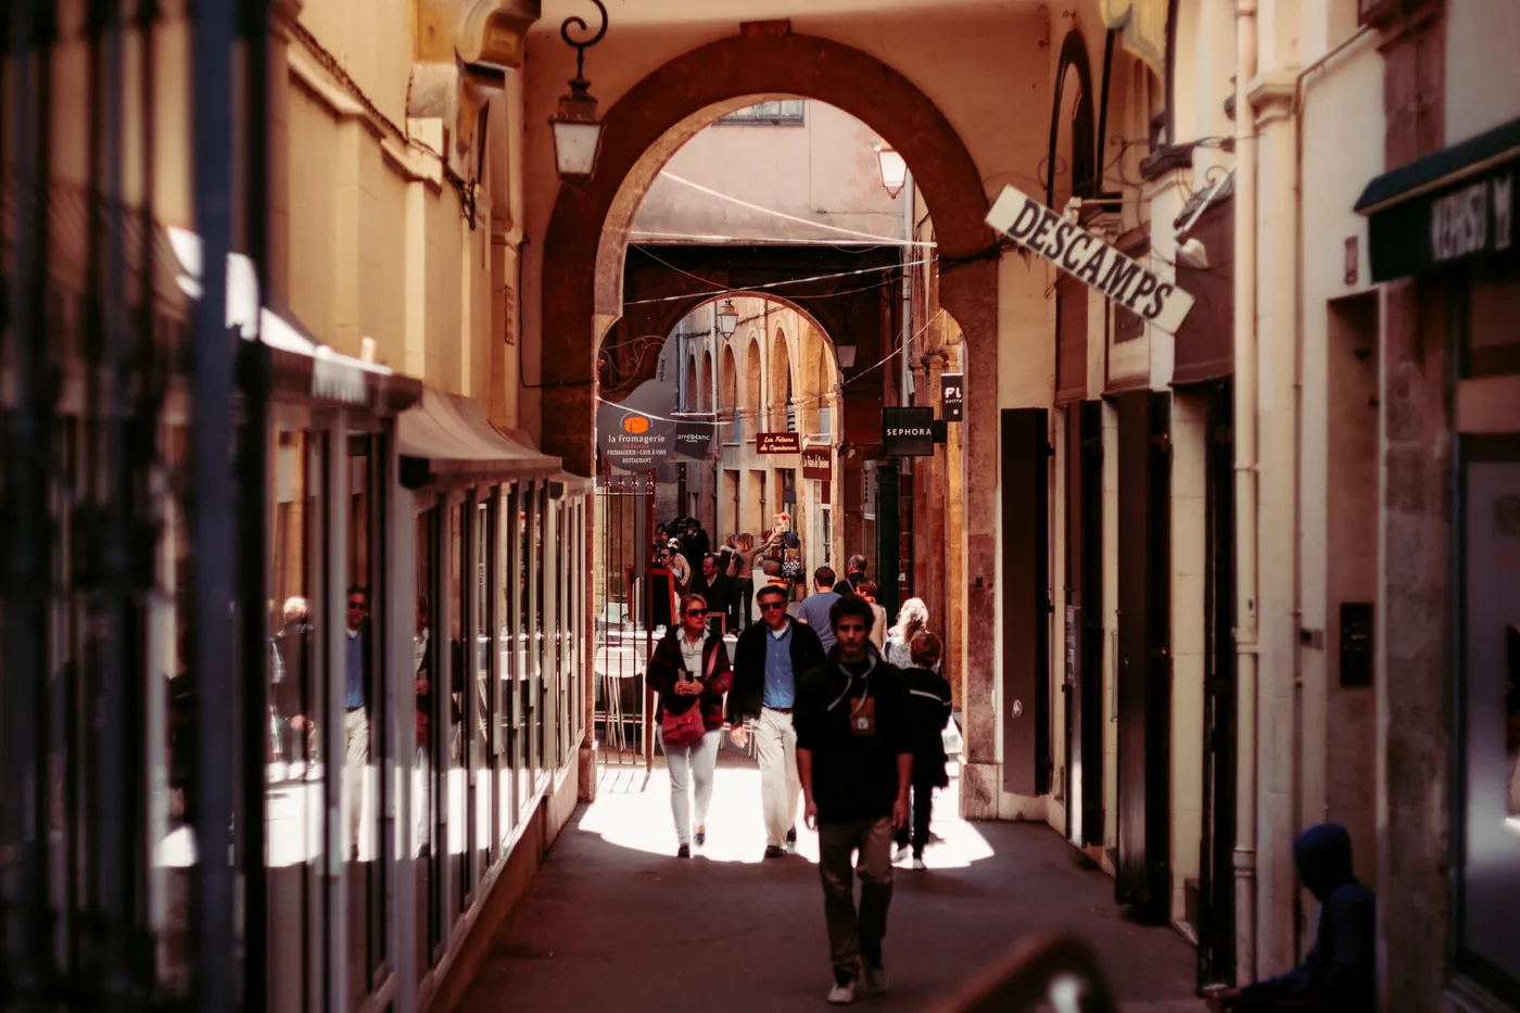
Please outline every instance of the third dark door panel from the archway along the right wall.
[[1119, 875], [1114, 897], [1170, 908], [1170, 395], [1119, 397]]

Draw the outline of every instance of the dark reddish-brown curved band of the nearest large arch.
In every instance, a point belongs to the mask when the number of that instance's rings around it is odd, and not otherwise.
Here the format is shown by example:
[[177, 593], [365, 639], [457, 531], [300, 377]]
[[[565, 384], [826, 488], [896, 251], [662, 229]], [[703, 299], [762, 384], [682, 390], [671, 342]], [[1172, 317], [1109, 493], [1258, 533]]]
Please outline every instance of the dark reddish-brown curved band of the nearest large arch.
[[[696, 131], [768, 94], [828, 102], [903, 154], [935, 216], [941, 306], [974, 347], [994, 347], [997, 246], [983, 221], [988, 202], [976, 164], [944, 114], [868, 53], [792, 33], [786, 23], [748, 24], [736, 37], [670, 59], [629, 88], [603, 119], [596, 173], [582, 186], [559, 187], [544, 236], [541, 333], [562, 341], [565, 354], [546, 357], [543, 412], [585, 423], [546, 427], [543, 441], [573, 470], [590, 473], [594, 462], [596, 348], [622, 313], [622, 265], [640, 199]], [[596, 269], [588, 272], [587, 265]], [[991, 435], [996, 389], [983, 391]], [[968, 409], [974, 412], [974, 405]]]

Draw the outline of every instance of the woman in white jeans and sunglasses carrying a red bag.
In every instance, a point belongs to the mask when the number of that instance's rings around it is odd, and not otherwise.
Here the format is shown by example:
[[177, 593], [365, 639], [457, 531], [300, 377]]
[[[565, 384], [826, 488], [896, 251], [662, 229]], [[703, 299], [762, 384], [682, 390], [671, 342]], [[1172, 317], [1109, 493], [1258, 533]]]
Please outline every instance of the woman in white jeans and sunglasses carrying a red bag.
[[670, 814], [679, 847], [676, 858], [692, 856], [692, 805], [689, 791], [696, 791], [696, 846], [707, 843], [707, 806], [713, 800], [713, 773], [717, 767], [717, 745], [724, 729], [724, 694], [733, 684], [728, 651], [724, 639], [708, 633], [707, 601], [701, 595], [682, 595], [678, 607], [679, 624], [664, 634], [649, 659], [649, 689], [660, 694], [655, 722], [666, 713], [681, 715], [701, 707], [702, 738], [686, 745], [669, 745], [661, 736], [666, 767], [670, 771]]

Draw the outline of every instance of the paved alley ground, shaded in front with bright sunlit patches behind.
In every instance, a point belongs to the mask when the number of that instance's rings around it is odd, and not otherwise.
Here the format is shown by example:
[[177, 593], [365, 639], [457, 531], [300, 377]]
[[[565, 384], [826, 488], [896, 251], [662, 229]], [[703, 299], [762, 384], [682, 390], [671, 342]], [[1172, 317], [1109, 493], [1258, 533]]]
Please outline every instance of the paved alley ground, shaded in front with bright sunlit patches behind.
[[[565, 826], [502, 926], [465, 1013], [824, 1008], [816, 837], [800, 827], [798, 855], [762, 862], [758, 805], [758, 773], [725, 754], [705, 853], [678, 861], [664, 771], [605, 770], [597, 802]], [[964, 823], [950, 799], [939, 811], [929, 870], [898, 869], [891, 992], [857, 1005], [924, 1008], [1026, 934], [1075, 929], [1126, 1013], [1202, 1010], [1193, 949], [1172, 929], [1125, 922], [1113, 881], [1055, 832]]]

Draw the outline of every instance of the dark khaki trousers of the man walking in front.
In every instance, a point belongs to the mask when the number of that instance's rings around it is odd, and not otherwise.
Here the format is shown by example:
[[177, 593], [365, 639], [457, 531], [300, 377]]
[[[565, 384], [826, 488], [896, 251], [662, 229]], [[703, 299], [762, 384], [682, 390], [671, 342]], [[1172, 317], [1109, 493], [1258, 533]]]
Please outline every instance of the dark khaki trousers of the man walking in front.
[[[857, 861], [854, 852], [860, 852]], [[860, 876], [860, 911], [856, 914], [854, 875]], [[886, 910], [892, 903], [892, 820], [821, 823], [818, 878], [824, 884], [824, 920], [834, 981], [860, 976], [862, 955], [882, 964]]]

